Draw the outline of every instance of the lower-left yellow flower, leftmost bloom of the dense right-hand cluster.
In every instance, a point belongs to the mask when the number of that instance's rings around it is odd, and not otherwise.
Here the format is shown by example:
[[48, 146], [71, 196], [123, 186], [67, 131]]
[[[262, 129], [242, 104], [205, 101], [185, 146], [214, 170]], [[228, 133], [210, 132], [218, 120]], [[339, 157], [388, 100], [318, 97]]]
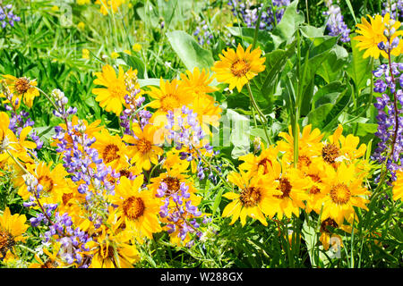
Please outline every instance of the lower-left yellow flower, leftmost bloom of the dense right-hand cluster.
[[246, 223], [246, 217], [259, 220], [263, 225], [268, 225], [265, 215], [271, 213], [270, 208], [274, 204], [273, 195], [280, 195], [277, 189], [278, 182], [271, 176], [263, 178], [262, 173], [231, 172], [228, 181], [234, 183], [239, 192], [227, 192], [222, 195], [231, 199], [222, 212], [223, 217], [232, 216], [231, 223], [241, 220], [242, 226]]

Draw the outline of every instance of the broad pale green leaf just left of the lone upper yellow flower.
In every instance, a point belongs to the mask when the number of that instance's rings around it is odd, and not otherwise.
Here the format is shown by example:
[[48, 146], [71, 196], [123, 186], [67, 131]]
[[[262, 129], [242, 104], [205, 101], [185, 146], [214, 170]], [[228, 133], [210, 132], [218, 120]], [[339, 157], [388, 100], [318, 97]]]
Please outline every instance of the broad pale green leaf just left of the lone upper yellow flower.
[[214, 64], [214, 59], [209, 50], [203, 49], [196, 40], [182, 30], [167, 32], [167, 38], [176, 55], [184, 63], [189, 71], [194, 67], [210, 70]]

